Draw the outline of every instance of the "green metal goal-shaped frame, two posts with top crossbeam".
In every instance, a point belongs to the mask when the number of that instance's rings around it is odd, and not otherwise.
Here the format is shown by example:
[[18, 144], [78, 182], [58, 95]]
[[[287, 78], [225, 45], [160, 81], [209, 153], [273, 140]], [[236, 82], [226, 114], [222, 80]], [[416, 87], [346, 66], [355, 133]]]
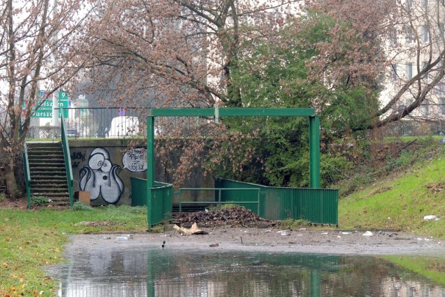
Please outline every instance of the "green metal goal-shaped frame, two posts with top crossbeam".
[[[320, 188], [320, 118], [314, 109], [254, 109], [222, 108], [214, 109], [152, 109], [147, 117], [147, 207], [152, 208], [154, 189], [154, 118], [173, 117], [307, 117], [309, 118], [309, 186]], [[148, 214], [150, 211], [148, 211]], [[149, 228], [151, 218], [148, 218]]]

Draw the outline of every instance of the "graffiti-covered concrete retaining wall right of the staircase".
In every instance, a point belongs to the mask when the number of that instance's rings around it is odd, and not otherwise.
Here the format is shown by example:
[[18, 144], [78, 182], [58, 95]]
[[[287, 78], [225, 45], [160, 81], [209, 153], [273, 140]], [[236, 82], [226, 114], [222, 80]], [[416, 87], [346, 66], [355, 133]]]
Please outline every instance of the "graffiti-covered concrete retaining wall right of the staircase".
[[[130, 177], [147, 178], [145, 146], [129, 149], [129, 139], [79, 140], [70, 139], [74, 191], [90, 191], [92, 205], [131, 205]], [[175, 157], [172, 157], [175, 158]], [[172, 159], [170, 163], [177, 163]], [[172, 183], [159, 160], [155, 160], [156, 181]], [[187, 187], [213, 187], [213, 179], [193, 171]], [[200, 201], [199, 192], [183, 195], [184, 201]], [[177, 203], [177, 198], [174, 204]]]

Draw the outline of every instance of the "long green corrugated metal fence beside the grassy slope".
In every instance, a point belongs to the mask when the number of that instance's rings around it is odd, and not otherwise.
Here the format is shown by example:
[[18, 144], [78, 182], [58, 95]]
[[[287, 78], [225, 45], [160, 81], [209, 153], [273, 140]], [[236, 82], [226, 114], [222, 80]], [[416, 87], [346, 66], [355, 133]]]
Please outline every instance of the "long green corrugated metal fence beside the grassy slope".
[[[217, 188], [259, 188], [259, 216], [268, 220], [286, 218], [305, 219], [312, 223], [338, 225], [339, 192], [330, 188], [280, 188], [236, 182], [230, 179], [215, 179]], [[221, 201], [249, 201], [249, 193], [230, 195], [223, 193]], [[247, 207], [257, 213], [254, 207]]]

